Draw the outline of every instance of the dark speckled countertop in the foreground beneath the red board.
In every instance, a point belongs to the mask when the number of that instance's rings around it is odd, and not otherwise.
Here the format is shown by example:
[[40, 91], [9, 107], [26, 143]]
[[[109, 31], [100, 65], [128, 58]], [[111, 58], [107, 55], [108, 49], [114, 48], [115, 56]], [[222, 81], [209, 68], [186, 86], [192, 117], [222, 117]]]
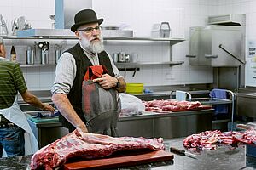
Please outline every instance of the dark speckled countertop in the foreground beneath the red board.
[[[183, 139], [166, 139], [164, 143], [166, 148], [170, 146], [178, 149], [183, 148]], [[168, 151], [168, 150], [166, 150]], [[245, 169], [256, 168], [256, 158], [246, 155], [245, 144], [237, 147], [231, 147], [228, 144], [218, 144], [217, 150], [203, 150], [196, 153], [196, 159], [188, 156], [179, 156], [174, 154], [173, 161], [160, 161], [149, 164], [138, 165], [136, 167], [120, 167], [119, 170], [128, 169], [166, 169], [166, 170], [219, 170], [219, 169]], [[17, 156], [0, 159], [0, 169], [29, 169], [31, 156]]]

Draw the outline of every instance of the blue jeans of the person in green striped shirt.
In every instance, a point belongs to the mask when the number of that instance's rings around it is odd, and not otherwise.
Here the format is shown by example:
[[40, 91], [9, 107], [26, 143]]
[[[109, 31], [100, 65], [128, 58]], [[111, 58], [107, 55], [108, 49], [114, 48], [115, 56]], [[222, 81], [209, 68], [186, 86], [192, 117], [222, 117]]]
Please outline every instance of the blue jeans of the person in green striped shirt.
[[3, 155], [3, 149], [7, 156], [24, 156], [24, 133], [20, 127], [0, 128], [0, 157]]

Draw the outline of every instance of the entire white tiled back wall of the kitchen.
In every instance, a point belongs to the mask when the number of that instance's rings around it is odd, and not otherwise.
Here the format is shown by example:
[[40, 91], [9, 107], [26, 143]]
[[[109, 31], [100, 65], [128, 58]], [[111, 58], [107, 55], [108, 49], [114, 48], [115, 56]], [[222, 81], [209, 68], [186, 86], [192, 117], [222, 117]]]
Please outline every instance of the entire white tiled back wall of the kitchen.
[[[75, 0], [74, 0], [75, 1]], [[238, 3], [238, 4], [237, 4]], [[153, 24], [168, 21], [172, 28], [172, 37], [184, 38], [172, 47], [172, 59], [184, 61], [183, 65], [144, 65], [137, 71], [126, 73], [127, 82], [143, 82], [146, 86], [176, 85], [191, 83], [211, 83], [212, 68], [189, 65], [189, 27], [206, 25], [207, 16], [230, 12], [245, 13], [252, 11], [247, 22], [253, 21], [253, 0], [251, 1], [212, 1], [212, 0], [93, 0], [93, 8], [98, 17], [104, 18], [102, 26], [129, 25], [136, 37], [149, 37]], [[254, 5], [255, 6], [255, 5]], [[10, 26], [11, 20], [24, 15], [32, 23], [32, 28], [51, 28], [50, 14], [55, 14], [53, 0], [0, 0], [1, 13]], [[237, 9], [238, 8], [238, 9]], [[248, 14], [248, 13], [246, 13]], [[252, 26], [247, 25], [247, 32], [253, 35]], [[254, 33], [255, 37], [255, 33]], [[105, 42], [110, 54], [125, 51], [136, 52], [139, 61], [167, 61], [170, 58], [169, 44], [166, 42]], [[53, 44], [52, 44], [53, 46]], [[19, 47], [17, 47], [19, 48]], [[20, 47], [22, 48], [22, 47]], [[24, 47], [23, 47], [24, 48]], [[9, 54], [10, 47], [7, 46]], [[53, 49], [52, 49], [53, 50]], [[25, 49], [18, 50], [18, 57], [25, 56]], [[53, 52], [51, 52], [53, 54]], [[24, 62], [24, 58], [20, 59]], [[51, 62], [54, 62], [51, 56]], [[48, 90], [55, 77], [54, 67], [23, 68], [26, 82], [31, 90]], [[122, 72], [124, 75], [124, 72]]]

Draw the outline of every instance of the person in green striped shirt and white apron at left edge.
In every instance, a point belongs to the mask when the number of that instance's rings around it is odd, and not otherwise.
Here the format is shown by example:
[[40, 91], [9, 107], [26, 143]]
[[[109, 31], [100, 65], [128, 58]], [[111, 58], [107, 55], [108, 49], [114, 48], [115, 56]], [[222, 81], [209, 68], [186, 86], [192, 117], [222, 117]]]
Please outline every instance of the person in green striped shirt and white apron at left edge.
[[20, 65], [9, 61], [5, 55], [3, 38], [0, 37], [0, 157], [3, 155], [3, 149], [7, 156], [23, 156], [26, 153], [25, 145], [29, 143], [24, 138], [26, 126], [29, 125], [17, 104], [18, 92], [28, 104], [51, 113], [54, 113], [55, 109], [42, 103], [27, 90]]

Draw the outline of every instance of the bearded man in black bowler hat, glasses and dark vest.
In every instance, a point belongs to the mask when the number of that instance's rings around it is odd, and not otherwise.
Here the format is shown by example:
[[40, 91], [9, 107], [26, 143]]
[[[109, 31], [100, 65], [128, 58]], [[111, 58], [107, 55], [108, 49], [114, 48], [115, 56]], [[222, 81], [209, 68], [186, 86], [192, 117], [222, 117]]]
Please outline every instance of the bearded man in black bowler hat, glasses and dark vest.
[[[104, 65], [108, 73], [93, 80], [106, 90], [125, 92], [124, 77], [113, 63], [113, 59], [104, 50], [100, 25], [103, 19], [97, 19], [95, 11], [84, 9], [74, 17], [71, 31], [78, 37], [79, 43], [67, 49], [58, 61], [55, 71], [55, 82], [51, 89], [52, 101], [60, 114], [64, 127], [72, 132], [75, 128], [85, 133], [102, 133], [117, 136], [114, 132], [119, 111], [108, 116], [97, 116], [94, 122], [89, 122], [84, 116], [82, 84], [88, 67]], [[86, 102], [86, 101], [85, 101]], [[106, 102], [106, 101], [105, 101]], [[101, 105], [93, 104], [93, 105]], [[115, 104], [118, 105], [118, 104]]]

